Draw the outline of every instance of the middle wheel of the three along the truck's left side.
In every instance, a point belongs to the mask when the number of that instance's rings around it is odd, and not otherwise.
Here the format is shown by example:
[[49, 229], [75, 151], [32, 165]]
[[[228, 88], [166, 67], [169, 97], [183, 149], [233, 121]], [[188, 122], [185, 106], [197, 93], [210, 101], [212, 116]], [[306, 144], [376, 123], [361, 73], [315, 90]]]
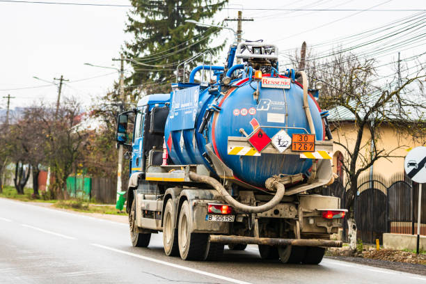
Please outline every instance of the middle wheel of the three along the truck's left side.
[[168, 256], [179, 255], [178, 230], [173, 223], [175, 221], [175, 210], [173, 210], [173, 200], [169, 199], [164, 209], [163, 223], [163, 245], [164, 253]]

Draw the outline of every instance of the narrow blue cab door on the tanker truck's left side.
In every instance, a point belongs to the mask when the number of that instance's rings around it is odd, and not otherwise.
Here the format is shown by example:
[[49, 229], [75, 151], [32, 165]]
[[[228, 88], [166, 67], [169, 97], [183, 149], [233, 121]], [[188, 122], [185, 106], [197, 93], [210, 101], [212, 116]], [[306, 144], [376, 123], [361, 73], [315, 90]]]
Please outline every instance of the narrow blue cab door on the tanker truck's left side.
[[136, 119], [134, 122], [134, 133], [132, 143], [132, 168], [131, 173], [142, 171], [142, 145], [143, 145], [143, 123], [145, 114], [145, 107], [136, 112]]

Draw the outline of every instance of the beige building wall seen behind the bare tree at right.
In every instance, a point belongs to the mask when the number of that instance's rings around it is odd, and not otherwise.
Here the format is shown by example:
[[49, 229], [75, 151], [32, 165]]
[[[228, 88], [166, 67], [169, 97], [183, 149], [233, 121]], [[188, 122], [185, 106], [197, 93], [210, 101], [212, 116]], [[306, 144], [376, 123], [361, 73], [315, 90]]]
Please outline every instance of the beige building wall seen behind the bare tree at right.
[[[336, 127], [336, 129], [335, 129]], [[345, 145], [349, 150], [354, 149], [354, 145], [356, 142], [356, 127], [353, 122], [340, 123], [339, 125], [331, 125], [331, 129], [333, 130], [333, 140]], [[416, 148], [421, 145], [425, 145], [426, 141], [424, 139], [415, 139], [413, 136], [409, 134], [398, 134], [395, 129], [388, 125], [383, 125], [379, 127], [379, 137], [377, 141], [377, 149], [378, 150], [386, 150], [386, 152], [390, 152], [390, 156], [388, 159], [380, 158], [379, 160], [374, 162], [373, 165], [373, 173], [380, 174], [384, 178], [390, 178], [395, 173], [404, 172], [404, 157], [407, 156], [409, 148]], [[370, 131], [367, 127], [364, 129], [363, 139], [361, 142], [361, 154], [367, 159], [370, 159]], [[334, 145], [334, 156], [333, 156], [333, 171], [337, 173], [338, 166], [337, 156], [338, 152], [341, 152], [344, 159], [345, 164], [349, 159], [349, 155], [345, 148], [341, 145]], [[361, 157], [358, 158], [357, 168], [363, 166], [363, 160]], [[347, 165], [349, 166], [349, 165]], [[362, 175], [366, 175], [370, 173], [370, 169], [363, 172]]]

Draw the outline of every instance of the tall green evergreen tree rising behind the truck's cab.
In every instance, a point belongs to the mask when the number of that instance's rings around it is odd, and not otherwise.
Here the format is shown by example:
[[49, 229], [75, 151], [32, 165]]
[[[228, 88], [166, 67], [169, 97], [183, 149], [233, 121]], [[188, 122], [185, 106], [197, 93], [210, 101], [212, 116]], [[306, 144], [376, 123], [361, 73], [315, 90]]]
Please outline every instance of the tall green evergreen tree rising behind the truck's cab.
[[[220, 31], [185, 21], [212, 23], [227, 1], [132, 0], [125, 31], [133, 40], [125, 43], [125, 56], [133, 58], [134, 72], [126, 83], [146, 94], [170, 91], [178, 64], [210, 47]], [[223, 45], [212, 47], [212, 53], [217, 54]]]

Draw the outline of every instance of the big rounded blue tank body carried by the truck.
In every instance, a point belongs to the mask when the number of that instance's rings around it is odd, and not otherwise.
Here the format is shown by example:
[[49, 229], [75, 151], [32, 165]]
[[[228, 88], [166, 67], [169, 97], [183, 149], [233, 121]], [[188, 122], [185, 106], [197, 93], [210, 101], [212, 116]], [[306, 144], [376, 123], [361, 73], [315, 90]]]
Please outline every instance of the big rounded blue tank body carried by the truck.
[[[263, 74], [263, 78], [270, 74]], [[281, 76], [283, 77], [283, 76]], [[232, 82], [226, 93], [212, 94], [209, 89], [199, 90], [195, 125], [190, 129], [177, 129], [183, 125], [185, 116], [168, 117], [165, 140], [168, 153], [175, 164], [200, 164], [213, 170], [205, 156], [206, 145], [211, 144], [214, 154], [234, 173], [234, 178], [255, 187], [265, 187], [265, 180], [273, 175], [309, 175], [311, 159], [301, 159], [297, 155], [228, 155], [228, 137], [251, 134], [259, 126], [270, 139], [281, 129], [292, 134], [306, 134], [309, 129], [306, 113], [303, 111], [303, 89], [295, 83], [290, 88], [263, 88], [260, 83], [258, 102], [253, 97], [256, 82], [251, 78]], [[197, 88], [197, 87], [193, 87]], [[197, 93], [198, 90], [195, 90]], [[172, 95], [175, 95], [173, 92]], [[187, 102], [190, 104], [191, 102]], [[173, 99], [171, 103], [173, 113]], [[319, 107], [311, 95], [308, 97], [310, 113], [315, 125], [316, 140], [324, 139], [322, 118]], [[213, 109], [213, 110], [212, 110]], [[207, 111], [214, 114], [203, 133], [198, 133]], [[195, 111], [194, 111], [195, 112]], [[253, 120], [254, 119], [254, 120]], [[254, 125], [254, 126], [253, 126]], [[173, 127], [175, 126], [175, 127]], [[241, 129], [244, 129], [242, 132]], [[253, 151], [252, 151], [253, 152]], [[221, 175], [220, 173], [216, 173]]]

